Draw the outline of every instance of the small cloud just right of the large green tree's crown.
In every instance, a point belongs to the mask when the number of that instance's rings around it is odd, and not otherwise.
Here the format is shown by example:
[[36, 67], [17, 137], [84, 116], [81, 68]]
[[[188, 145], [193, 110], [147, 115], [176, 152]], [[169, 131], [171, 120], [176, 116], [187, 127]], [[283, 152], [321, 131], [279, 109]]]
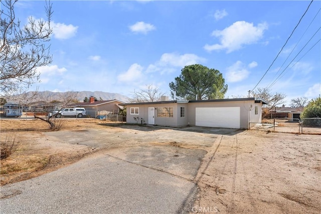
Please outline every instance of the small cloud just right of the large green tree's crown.
[[237, 61], [232, 66], [227, 68], [227, 82], [239, 82], [248, 77], [250, 72], [246, 70], [246, 65], [241, 61]]

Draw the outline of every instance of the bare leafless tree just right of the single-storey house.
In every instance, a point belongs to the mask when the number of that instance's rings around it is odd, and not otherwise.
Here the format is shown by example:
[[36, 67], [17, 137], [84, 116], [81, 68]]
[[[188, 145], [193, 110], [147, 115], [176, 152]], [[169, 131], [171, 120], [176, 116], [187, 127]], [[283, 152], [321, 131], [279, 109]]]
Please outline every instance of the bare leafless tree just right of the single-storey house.
[[268, 88], [257, 88], [255, 91], [252, 91], [252, 95], [256, 98], [261, 98], [268, 102], [268, 110], [276, 107], [277, 105], [285, 103], [286, 95], [283, 93], [271, 93], [271, 90]]

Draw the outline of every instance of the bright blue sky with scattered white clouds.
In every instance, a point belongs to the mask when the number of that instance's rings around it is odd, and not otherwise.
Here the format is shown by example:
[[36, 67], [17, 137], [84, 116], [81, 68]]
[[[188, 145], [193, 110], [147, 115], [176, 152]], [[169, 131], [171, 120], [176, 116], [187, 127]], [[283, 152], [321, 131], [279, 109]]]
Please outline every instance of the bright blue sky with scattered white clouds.
[[[31, 90], [104, 91], [130, 97], [151, 84], [170, 95], [169, 83], [184, 66], [202, 64], [223, 74], [225, 97], [232, 98], [246, 96], [255, 87], [310, 1], [52, 3], [53, 63], [38, 69], [41, 83]], [[22, 23], [29, 16], [45, 18], [44, 5], [20, 1], [17, 16]], [[286, 94], [288, 103], [295, 97], [319, 96], [320, 8], [320, 1], [312, 2], [257, 87]]]

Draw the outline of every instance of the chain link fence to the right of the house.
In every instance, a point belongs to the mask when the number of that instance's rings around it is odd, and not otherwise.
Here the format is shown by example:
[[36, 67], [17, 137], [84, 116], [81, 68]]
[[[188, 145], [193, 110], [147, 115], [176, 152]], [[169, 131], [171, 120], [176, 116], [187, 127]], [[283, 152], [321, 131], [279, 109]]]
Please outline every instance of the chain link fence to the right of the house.
[[250, 123], [251, 130], [294, 134], [321, 134], [321, 118], [303, 118], [289, 121], [284, 118], [263, 119], [262, 123]]

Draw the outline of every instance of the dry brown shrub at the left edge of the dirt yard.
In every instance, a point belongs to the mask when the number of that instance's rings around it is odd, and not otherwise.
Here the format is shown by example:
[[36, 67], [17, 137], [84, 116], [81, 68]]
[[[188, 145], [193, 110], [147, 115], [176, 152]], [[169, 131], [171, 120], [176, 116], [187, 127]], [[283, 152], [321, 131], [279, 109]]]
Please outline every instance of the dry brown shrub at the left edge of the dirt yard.
[[14, 153], [20, 142], [21, 140], [17, 139], [15, 134], [11, 132], [7, 134], [5, 140], [1, 140], [0, 159], [6, 159]]

